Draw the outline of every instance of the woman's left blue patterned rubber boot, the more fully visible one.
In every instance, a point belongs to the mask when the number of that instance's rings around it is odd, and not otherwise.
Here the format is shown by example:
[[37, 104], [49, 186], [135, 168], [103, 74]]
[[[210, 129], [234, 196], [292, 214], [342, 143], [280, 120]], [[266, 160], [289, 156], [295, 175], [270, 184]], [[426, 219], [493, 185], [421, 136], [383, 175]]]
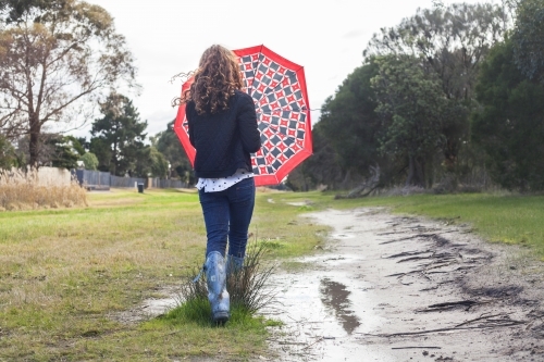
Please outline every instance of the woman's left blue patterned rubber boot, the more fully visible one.
[[224, 324], [228, 321], [231, 307], [226, 291], [225, 259], [219, 251], [212, 251], [206, 258], [205, 269], [212, 322]]

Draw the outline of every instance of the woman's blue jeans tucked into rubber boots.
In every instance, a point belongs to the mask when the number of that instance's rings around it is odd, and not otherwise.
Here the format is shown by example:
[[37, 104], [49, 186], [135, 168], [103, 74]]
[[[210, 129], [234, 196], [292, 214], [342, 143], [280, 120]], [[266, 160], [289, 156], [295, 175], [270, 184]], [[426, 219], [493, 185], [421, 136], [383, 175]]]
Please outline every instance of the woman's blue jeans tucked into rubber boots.
[[208, 235], [206, 257], [212, 251], [225, 257], [228, 237], [228, 254], [244, 258], [255, 207], [254, 178], [243, 179], [223, 191], [199, 190], [198, 195]]

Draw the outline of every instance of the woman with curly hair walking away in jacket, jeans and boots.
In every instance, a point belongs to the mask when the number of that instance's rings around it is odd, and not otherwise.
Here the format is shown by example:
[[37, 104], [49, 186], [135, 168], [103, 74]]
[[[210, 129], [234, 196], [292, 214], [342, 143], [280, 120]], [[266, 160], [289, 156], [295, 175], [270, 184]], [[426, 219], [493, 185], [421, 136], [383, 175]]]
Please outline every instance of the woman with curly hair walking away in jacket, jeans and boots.
[[242, 88], [235, 54], [212, 46], [182, 99], [197, 151], [194, 166], [208, 235], [203, 269], [214, 323], [228, 321], [226, 274], [244, 264], [255, 204], [250, 153], [260, 149], [261, 140], [252, 98]]

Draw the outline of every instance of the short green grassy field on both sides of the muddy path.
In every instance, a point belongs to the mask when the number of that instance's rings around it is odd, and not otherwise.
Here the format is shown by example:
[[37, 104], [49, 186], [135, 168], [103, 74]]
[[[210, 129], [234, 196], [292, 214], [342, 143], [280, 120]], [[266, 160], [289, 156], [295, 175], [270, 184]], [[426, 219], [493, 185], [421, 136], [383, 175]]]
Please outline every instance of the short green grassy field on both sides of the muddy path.
[[[240, 315], [214, 328], [175, 313], [133, 323], [118, 317], [148, 298], [163, 297], [202, 263], [206, 233], [195, 192], [114, 190], [89, 194], [88, 203], [0, 212], [0, 361], [267, 354], [265, 326], [274, 321]], [[335, 201], [330, 194], [259, 192], [252, 239], [268, 241], [270, 258], [309, 253], [326, 229], [301, 213], [360, 207], [470, 224], [490, 241], [527, 245], [544, 258], [544, 197]]]

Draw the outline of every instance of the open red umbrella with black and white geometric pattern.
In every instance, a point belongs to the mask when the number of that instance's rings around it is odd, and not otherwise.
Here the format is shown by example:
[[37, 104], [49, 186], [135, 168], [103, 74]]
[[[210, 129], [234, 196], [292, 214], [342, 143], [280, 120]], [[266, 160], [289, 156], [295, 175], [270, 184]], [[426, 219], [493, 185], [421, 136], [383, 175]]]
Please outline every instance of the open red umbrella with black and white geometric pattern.
[[[251, 154], [257, 186], [277, 185], [311, 155], [311, 123], [304, 68], [264, 46], [235, 50], [246, 91], [254, 98], [262, 147]], [[193, 78], [182, 86], [182, 93]], [[174, 130], [194, 164], [185, 104], [180, 105]]]

